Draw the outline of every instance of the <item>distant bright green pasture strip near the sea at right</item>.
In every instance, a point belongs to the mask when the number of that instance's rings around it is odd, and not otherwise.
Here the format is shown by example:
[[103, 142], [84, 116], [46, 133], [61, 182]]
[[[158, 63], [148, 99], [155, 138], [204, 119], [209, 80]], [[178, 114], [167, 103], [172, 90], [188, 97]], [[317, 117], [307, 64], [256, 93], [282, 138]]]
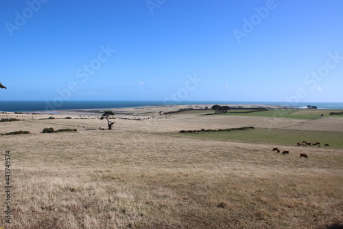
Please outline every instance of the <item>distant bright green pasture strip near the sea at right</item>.
[[330, 112], [340, 112], [343, 110], [329, 109], [270, 109], [268, 111], [251, 112], [252, 110], [230, 110], [228, 113], [216, 114], [217, 116], [260, 116], [273, 118], [298, 118], [298, 119], [316, 119], [322, 117], [343, 117], [330, 116]]

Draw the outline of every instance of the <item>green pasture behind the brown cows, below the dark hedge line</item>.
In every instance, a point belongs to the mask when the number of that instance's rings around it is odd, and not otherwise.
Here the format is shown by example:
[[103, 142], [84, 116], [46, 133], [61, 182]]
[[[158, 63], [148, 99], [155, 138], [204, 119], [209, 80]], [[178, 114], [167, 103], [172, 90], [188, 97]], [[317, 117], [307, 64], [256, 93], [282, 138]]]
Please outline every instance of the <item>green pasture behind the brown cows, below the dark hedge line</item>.
[[329, 144], [330, 148], [343, 148], [343, 133], [335, 132], [257, 128], [244, 131], [197, 132], [178, 134], [180, 136], [188, 138], [227, 140], [234, 142], [257, 142], [265, 144], [283, 144], [294, 146], [296, 146], [296, 142], [320, 142], [322, 144], [322, 147], [324, 147], [324, 144]]

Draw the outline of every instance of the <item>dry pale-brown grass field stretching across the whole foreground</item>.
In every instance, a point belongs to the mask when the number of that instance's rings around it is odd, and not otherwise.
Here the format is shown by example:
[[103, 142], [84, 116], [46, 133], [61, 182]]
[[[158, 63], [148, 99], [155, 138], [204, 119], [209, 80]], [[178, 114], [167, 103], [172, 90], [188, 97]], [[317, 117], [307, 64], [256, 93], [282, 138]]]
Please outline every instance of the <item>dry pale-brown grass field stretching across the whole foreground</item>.
[[[156, 111], [160, 109], [164, 108]], [[11, 154], [12, 182], [11, 223], [1, 216], [0, 227], [343, 226], [342, 147], [240, 142], [178, 133], [252, 126], [303, 131], [298, 140], [302, 141], [306, 131], [342, 135], [342, 117], [307, 120], [190, 112], [157, 119], [145, 114], [141, 117], [149, 119], [116, 116], [114, 129], [109, 131], [99, 129], [106, 129], [106, 120], [97, 116], [69, 113], [38, 120], [49, 116], [0, 114], [0, 119], [21, 119], [0, 122], [0, 133], [31, 132], [0, 135], [1, 184], [5, 186], [5, 151]], [[62, 119], [67, 116], [72, 119]], [[78, 131], [41, 133], [46, 127]], [[274, 147], [288, 150], [289, 155], [275, 153]], [[300, 153], [309, 158], [300, 158]], [[4, 212], [4, 192], [0, 203]]]

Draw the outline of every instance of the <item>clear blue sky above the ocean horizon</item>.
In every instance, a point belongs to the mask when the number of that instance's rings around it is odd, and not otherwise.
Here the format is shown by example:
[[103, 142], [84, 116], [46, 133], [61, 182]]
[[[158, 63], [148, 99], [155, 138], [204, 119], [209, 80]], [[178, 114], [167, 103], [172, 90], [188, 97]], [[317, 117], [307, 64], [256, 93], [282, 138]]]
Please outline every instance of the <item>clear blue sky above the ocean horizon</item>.
[[0, 1], [0, 100], [343, 102], [343, 1]]

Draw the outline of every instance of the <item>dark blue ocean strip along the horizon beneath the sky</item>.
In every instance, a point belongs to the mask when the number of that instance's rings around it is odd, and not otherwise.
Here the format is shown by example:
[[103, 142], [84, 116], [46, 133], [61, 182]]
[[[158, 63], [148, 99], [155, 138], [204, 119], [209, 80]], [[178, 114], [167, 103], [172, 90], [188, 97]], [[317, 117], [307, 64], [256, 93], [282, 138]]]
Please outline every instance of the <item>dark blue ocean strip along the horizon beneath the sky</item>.
[[[289, 106], [287, 102], [254, 102], [254, 101], [0, 101], [0, 111], [28, 112], [28, 111], [54, 111], [69, 109], [106, 109], [127, 108], [158, 105], [215, 105], [215, 104], [241, 104], [241, 105], [280, 105]], [[343, 109], [343, 102], [298, 102], [294, 107], [305, 108], [307, 105], [318, 109]]]

